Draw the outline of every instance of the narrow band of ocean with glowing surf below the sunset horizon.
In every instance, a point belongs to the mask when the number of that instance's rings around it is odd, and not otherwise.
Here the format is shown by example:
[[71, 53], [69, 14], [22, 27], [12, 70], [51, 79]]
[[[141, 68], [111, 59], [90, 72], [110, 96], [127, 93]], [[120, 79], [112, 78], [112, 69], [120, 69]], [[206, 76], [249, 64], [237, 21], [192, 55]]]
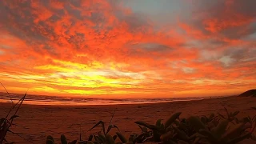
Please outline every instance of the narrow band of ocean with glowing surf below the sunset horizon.
[[[13, 102], [18, 102], [22, 94], [10, 94]], [[0, 102], [11, 102], [8, 94], [0, 93]], [[26, 95], [24, 104], [29, 105], [53, 105], [53, 106], [88, 106], [88, 105], [117, 105], [138, 104], [155, 102], [176, 102], [200, 100], [210, 97], [193, 98], [84, 98], [84, 97], [59, 97], [45, 95]], [[214, 97], [217, 98], [217, 97]]]

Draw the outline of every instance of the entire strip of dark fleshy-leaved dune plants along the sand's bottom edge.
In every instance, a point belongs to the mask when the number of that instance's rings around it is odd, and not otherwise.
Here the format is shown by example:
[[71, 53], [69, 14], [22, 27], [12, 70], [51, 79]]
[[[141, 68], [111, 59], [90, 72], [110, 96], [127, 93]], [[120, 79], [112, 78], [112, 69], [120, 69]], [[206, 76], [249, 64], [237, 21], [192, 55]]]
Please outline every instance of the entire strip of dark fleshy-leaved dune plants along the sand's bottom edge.
[[[234, 144], [245, 139], [256, 141], [254, 130], [256, 127], [256, 115], [238, 119], [239, 111], [229, 112], [224, 107], [226, 114], [209, 114], [202, 117], [190, 116], [180, 118], [181, 112], [170, 116], [166, 122], [158, 119], [155, 124], [142, 121], [134, 122], [142, 130], [141, 134], [131, 134], [126, 138], [118, 130], [118, 126], [110, 125], [105, 127], [105, 122], [98, 122], [90, 130], [101, 126], [98, 134], [90, 134], [84, 140], [81, 135], [79, 140], [67, 142], [65, 135], [61, 135], [62, 144], [122, 144], [122, 143], [173, 143], [173, 144]], [[255, 107], [252, 109], [256, 110]], [[110, 130], [116, 128], [115, 134], [110, 134]], [[89, 130], [89, 131], [90, 131]], [[54, 138], [50, 135], [46, 138], [46, 144], [54, 144]]]

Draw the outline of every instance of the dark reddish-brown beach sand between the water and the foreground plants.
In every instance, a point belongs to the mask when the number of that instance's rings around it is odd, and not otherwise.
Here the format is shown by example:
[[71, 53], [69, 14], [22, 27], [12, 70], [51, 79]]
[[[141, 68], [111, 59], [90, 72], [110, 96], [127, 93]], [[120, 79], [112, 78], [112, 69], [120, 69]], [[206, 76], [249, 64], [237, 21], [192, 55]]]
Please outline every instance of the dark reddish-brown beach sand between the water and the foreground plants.
[[[256, 106], [256, 98], [241, 97], [118, 106], [23, 105], [18, 112], [20, 118], [16, 118], [14, 121], [18, 126], [12, 126], [11, 130], [34, 143], [43, 144], [46, 142], [48, 134], [58, 139], [61, 134], [65, 134], [69, 140], [79, 138], [80, 124], [82, 123], [82, 138], [87, 138], [89, 135], [86, 134], [87, 130], [99, 120], [110, 122], [114, 109], [117, 109], [113, 123], [119, 127], [123, 134], [128, 136], [133, 132], [140, 132], [138, 126], [134, 124], [138, 120], [154, 123], [158, 118], [166, 120], [170, 114], [178, 111], [182, 112], [182, 118], [186, 118], [190, 114], [203, 115], [211, 112], [225, 114], [222, 105], [230, 111], [240, 110], [238, 117], [241, 118], [247, 115], [253, 117], [256, 114], [255, 110], [250, 109], [250, 107]], [[0, 117], [6, 116], [9, 109], [9, 104], [0, 103]], [[96, 131], [99, 130], [98, 127]], [[29, 143], [14, 134], [8, 134], [6, 139], [15, 143]], [[57, 139], [56, 141], [59, 142]]]

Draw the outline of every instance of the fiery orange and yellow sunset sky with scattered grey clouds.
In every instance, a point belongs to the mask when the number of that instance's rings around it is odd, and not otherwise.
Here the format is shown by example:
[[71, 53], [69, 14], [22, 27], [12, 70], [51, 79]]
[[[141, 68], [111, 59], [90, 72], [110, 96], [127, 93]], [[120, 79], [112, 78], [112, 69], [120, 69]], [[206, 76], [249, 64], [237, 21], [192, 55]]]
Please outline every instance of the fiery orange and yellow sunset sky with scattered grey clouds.
[[58, 96], [239, 94], [256, 86], [254, 6], [255, 0], [0, 1], [0, 82], [11, 93]]

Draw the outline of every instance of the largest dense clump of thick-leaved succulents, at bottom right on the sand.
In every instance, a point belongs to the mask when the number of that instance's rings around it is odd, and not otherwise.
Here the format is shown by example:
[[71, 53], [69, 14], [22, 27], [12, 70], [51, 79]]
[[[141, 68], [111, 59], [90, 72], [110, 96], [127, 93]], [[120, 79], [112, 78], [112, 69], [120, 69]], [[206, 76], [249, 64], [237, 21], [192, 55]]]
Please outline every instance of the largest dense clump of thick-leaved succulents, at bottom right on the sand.
[[256, 116], [238, 120], [236, 116], [239, 111], [229, 113], [226, 108], [224, 109], [226, 116], [210, 114], [209, 117], [203, 115], [201, 118], [190, 116], [180, 119], [181, 113], [175, 113], [165, 124], [161, 122], [161, 119], [156, 122], [156, 125], [141, 121], [135, 122], [142, 129], [142, 134], [136, 135], [133, 142], [231, 144], [241, 142], [246, 138], [256, 139], [253, 134]]

